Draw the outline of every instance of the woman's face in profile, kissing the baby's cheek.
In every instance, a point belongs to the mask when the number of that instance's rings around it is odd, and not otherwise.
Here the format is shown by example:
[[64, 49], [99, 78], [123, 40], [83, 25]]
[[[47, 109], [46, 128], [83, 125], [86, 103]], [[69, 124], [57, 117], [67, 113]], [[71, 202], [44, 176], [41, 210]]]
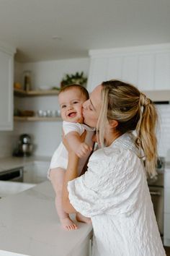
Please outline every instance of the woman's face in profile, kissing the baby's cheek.
[[99, 112], [102, 107], [102, 85], [98, 85], [90, 94], [89, 100], [83, 103], [84, 124], [97, 127]]

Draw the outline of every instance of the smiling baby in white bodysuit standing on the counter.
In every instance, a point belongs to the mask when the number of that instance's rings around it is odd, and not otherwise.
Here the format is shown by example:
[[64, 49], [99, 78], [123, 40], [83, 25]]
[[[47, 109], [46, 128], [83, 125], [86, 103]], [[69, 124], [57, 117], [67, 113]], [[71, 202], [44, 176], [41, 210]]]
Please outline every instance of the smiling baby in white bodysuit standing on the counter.
[[[68, 144], [76, 155], [81, 158], [79, 160], [79, 175], [82, 168], [86, 163], [89, 154], [91, 153], [93, 142], [92, 136], [94, 135], [94, 129], [83, 124], [82, 116], [82, 104], [88, 100], [89, 93], [81, 85], [68, 85], [62, 88], [58, 101], [61, 108], [61, 117], [63, 119], [63, 132], [68, 140]], [[86, 130], [86, 138], [84, 142], [81, 142], [80, 136]], [[53, 157], [50, 162], [50, 168], [48, 171], [48, 178], [53, 184], [55, 190], [55, 208], [58, 212], [58, 216], [61, 221], [61, 225], [66, 230], [77, 229], [77, 226], [68, 213], [65, 213], [62, 207], [62, 189], [64, 171], [66, 171], [68, 164], [68, 152], [63, 145], [63, 142], [53, 153]], [[76, 214], [77, 221], [90, 222], [89, 218], [81, 216], [80, 213]]]

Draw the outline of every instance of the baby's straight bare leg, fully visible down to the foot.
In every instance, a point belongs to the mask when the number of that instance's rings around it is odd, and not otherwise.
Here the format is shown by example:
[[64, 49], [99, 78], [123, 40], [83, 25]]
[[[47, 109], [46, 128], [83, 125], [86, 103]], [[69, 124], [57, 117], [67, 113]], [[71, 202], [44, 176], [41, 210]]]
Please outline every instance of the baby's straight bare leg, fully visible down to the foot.
[[63, 180], [64, 180], [63, 168], [53, 168], [50, 170], [50, 181], [53, 184], [53, 189], [55, 190], [55, 208], [58, 212], [58, 216], [61, 221], [61, 225], [66, 230], [77, 229], [77, 226], [71, 218], [69, 218], [68, 213], [65, 213], [62, 206], [62, 189], [63, 189]]

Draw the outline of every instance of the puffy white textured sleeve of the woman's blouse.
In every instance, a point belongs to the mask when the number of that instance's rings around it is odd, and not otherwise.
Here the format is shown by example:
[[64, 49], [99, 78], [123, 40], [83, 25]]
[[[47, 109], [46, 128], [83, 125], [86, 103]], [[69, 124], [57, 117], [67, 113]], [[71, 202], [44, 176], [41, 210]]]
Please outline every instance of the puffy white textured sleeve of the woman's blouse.
[[141, 194], [140, 159], [130, 150], [114, 150], [104, 157], [101, 152], [97, 150], [91, 156], [84, 175], [68, 182], [71, 205], [86, 217], [102, 213], [129, 215], [138, 207]]

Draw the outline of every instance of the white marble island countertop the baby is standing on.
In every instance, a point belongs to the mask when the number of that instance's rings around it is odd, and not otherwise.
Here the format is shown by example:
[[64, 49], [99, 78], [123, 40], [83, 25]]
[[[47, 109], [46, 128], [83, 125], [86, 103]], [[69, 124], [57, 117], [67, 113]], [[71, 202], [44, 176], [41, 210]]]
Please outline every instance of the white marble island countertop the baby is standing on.
[[[0, 200], [0, 250], [32, 256], [73, 255], [91, 234], [91, 224], [76, 231], [62, 229], [50, 182]], [[73, 215], [72, 215], [73, 218]]]

